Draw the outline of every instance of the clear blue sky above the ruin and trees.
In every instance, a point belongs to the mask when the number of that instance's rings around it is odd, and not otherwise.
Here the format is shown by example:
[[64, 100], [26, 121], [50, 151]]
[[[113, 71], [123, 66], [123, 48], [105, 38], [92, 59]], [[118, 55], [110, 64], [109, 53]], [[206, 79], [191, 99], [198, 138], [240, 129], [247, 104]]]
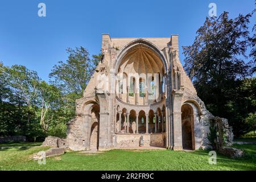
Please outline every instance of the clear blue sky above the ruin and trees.
[[[46, 3], [46, 17], [38, 16], [40, 2]], [[228, 11], [230, 18], [254, 9], [254, 0], [0, 0], [0, 60], [25, 65], [48, 81], [53, 65], [67, 59], [67, 47], [82, 46], [90, 55], [98, 54], [103, 33], [115, 38], [179, 34], [181, 50], [192, 44], [210, 2], [216, 3], [217, 15]]]

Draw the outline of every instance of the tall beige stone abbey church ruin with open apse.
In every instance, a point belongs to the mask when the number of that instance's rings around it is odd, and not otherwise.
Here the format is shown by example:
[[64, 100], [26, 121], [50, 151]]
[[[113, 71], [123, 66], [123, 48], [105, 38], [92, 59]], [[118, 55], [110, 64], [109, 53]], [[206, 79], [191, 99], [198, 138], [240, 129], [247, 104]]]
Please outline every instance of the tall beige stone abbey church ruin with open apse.
[[[66, 145], [71, 150], [209, 148], [216, 119], [197, 97], [179, 60], [179, 38], [110, 38], [102, 60], [76, 101]], [[232, 131], [225, 119], [228, 142]], [[231, 136], [231, 137], [230, 137]]]

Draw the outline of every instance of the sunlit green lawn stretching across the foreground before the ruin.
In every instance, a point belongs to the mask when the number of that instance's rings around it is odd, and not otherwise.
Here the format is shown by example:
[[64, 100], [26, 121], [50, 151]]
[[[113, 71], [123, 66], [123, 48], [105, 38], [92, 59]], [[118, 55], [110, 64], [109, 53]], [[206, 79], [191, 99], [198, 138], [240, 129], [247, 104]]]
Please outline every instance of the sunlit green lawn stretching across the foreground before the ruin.
[[[30, 143], [24, 144], [31, 146]], [[0, 170], [256, 170], [256, 145], [236, 145], [246, 152], [241, 159], [217, 155], [217, 165], [208, 163], [209, 151], [122, 151], [101, 154], [67, 152], [47, 158], [46, 165], [30, 159], [47, 147], [12, 147], [0, 150]]]

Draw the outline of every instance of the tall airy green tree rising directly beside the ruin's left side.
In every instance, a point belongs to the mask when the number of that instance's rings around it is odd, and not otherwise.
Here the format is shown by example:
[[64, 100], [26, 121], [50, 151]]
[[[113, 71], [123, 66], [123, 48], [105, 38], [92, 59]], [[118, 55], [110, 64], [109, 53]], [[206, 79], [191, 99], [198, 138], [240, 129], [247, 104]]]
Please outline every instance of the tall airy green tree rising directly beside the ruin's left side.
[[63, 94], [61, 112], [65, 114], [65, 123], [74, 117], [75, 101], [82, 97], [90, 77], [102, 59], [101, 54], [93, 55], [90, 59], [88, 51], [83, 47], [68, 48], [67, 53], [68, 60], [65, 63], [59, 61], [49, 74], [51, 84], [59, 88]]

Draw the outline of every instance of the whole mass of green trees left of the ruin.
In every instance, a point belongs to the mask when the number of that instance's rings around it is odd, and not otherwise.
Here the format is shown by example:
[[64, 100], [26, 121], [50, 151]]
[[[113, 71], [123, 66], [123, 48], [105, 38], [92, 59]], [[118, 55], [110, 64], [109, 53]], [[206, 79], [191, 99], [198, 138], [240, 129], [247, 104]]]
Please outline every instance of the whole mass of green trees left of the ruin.
[[102, 55], [85, 48], [68, 48], [66, 63], [55, 65], [51, 84], [22, 65], [6, 67], [0, 61], [0, 135], [37, 138], [65, 137], [68, 121], [75, 117], [75, 101], [82, 96]]

